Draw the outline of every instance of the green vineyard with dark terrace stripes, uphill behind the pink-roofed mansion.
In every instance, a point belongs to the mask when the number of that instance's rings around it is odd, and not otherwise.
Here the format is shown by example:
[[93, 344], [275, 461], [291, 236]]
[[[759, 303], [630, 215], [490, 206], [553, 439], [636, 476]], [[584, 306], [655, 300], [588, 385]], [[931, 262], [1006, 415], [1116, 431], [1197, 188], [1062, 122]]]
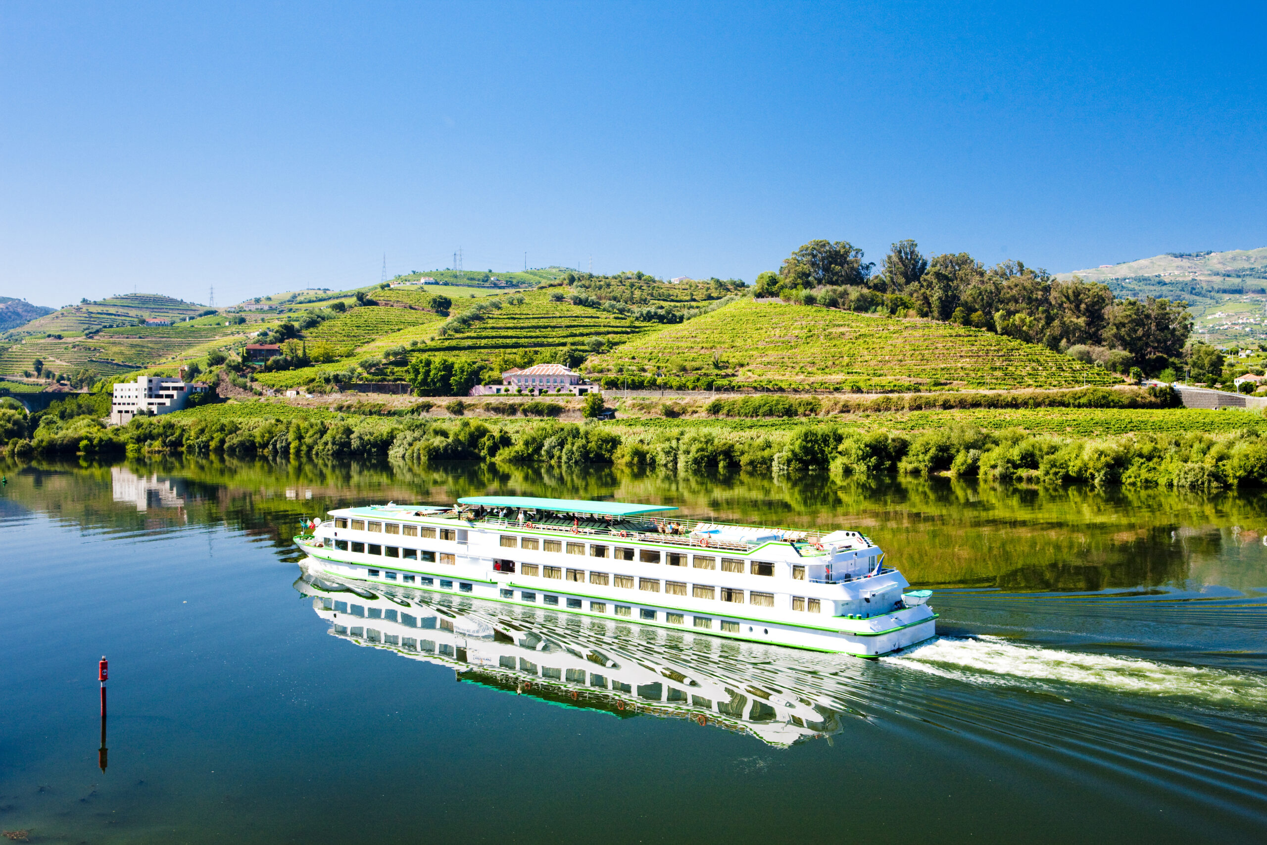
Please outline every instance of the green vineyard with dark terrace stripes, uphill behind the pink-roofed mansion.
[[521, 348], [585, 346], [590, 337], [623, 343], [663, 328], [659, 323], [635, 323], [595, 308], [552, 303], [546, 291], [521, 294], [522, 305], [504, 305], [465, 331], [427, 343], [428, 353], [454, 359], [492, 361], [498, 352]]

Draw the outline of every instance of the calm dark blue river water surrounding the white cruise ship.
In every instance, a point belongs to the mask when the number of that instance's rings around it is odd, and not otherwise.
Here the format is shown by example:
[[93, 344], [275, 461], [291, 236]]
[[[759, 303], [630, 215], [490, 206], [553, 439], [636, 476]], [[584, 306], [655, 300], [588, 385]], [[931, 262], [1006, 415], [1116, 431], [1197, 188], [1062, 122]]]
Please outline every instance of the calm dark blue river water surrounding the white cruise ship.
[[[1267, 839], [1259, 492], [217, 461], [6, 475], [0, 829], [33, 842]], [[304, 580], [302, 517], [474, 493], [860, 527], [935, 590], [940, 637], [868, 663], [427, 599], [438, 645], [418, 659], [331, 626], [333, 600], [394, 606]], [[730, 717], [525, 688], [490, 621], [546, 644], [542, 666], [602, 651], [612, 683], [685, 675], [731, 696]]]

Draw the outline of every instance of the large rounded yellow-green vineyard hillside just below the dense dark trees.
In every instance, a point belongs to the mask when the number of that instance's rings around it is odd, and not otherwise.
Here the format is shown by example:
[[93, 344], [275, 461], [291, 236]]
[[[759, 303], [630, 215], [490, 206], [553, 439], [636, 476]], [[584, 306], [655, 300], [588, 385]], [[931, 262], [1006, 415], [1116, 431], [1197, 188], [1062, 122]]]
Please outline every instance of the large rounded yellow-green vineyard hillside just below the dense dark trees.
[[1043, 346], [925, 319], [893, 319], [750, 299], [665, 327], [592, 359], [590, 371], [721, 375], [736, 386], [903, 390], [1120, 384]]

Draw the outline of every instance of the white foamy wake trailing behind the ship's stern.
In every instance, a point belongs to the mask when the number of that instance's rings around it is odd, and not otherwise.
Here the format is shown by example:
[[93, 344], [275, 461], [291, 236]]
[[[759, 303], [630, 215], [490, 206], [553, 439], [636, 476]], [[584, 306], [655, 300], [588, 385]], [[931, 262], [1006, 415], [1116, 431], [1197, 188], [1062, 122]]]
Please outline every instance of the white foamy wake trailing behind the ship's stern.
[[969, 683], [1016, 684], [1025, 679], [1267, 709], [1267, 675], [1059, 651], [1001, 637], [943, 637], [883, 660]]

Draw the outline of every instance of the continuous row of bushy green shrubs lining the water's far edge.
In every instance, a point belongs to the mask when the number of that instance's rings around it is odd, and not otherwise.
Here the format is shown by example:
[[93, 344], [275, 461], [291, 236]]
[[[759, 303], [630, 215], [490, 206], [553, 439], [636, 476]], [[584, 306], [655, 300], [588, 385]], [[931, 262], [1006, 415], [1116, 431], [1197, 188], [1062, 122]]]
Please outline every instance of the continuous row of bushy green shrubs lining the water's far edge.
[[[1131, 433], [1069, 437], [1020, 429], [940, 426], [924, 432], [799, 424], [794, 428], [631, 428], [541, 419], [518, 424], [419, 417], [270, 413], [228, 414], [210, 405], [139, 417], [106, 428], [96, 397], [54, 403], [19, 419], [5, 407], [9, 457], [29, 455], [177, 454], [275, 459], [388, 457], [397, 461], [504, 461], [580, 466], [620, 464], [664, 473], [742, 470], [977, 476], [995, 481], [1216, 489], [1267, 484], [1267, 437], [1228, 433]], [[540, 403], [549, 404], [549, 403]], [[526, 407], [523, 408], [526, 409]], [[85, 412], [85, 413], [77, 413]], [[545, 412], [549, 413], [549, 412]], [[10, 419], [13, 417], [13, 419]]]

